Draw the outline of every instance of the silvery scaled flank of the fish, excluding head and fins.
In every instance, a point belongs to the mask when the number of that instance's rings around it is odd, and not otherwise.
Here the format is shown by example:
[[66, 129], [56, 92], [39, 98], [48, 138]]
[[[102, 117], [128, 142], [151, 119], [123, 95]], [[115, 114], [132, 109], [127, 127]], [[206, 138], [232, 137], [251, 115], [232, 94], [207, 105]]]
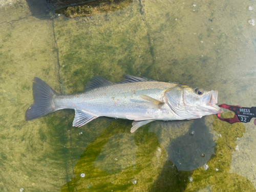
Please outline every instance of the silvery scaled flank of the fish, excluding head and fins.
[[136, 114], [158, 118], [154, 115], [158, 109], [152, 109], [144, 104], [147, 101], [139, 95], [148, 95], [162, 101], [163, 92], [175, 86], [177, 84], [157, 81], [125, 83], [125, 86], [113, 84], [84, 93], [59, 95], [54, 98], [54, 104], [59, 110], [76, 108], [97, 116], [126, 118], [126, 115]]

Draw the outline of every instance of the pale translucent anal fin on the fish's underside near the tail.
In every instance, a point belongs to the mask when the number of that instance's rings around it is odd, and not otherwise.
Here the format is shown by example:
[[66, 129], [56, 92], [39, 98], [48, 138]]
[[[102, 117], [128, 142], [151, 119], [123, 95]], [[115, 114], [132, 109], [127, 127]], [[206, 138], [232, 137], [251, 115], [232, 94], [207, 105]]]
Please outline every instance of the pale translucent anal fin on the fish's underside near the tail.
[[75, 109], [75, 118], [73, 121], [73, 126], [82, 126], [85, 125], [86, 123], [89, 123], [93, 119], [96, 119], [98, 116], [95, 116], [93, 114], [90, 114], [88, 112], [82, 111]]

